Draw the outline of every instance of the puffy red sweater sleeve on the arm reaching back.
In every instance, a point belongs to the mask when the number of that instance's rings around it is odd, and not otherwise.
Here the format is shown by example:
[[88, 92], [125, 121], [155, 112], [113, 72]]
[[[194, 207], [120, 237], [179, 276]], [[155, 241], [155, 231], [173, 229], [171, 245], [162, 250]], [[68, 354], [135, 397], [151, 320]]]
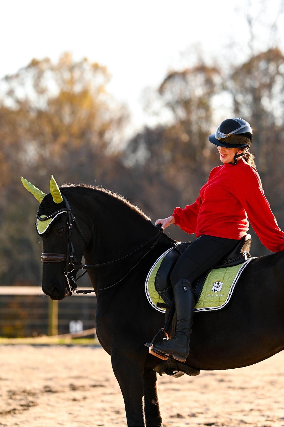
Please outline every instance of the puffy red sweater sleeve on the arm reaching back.
[[246, 211], [252, 228], [261, 240], [261, 243], [272, 252], [284, 250], [284, 232], [278, 227], [269, 203], [261, 187], [240, 200]]

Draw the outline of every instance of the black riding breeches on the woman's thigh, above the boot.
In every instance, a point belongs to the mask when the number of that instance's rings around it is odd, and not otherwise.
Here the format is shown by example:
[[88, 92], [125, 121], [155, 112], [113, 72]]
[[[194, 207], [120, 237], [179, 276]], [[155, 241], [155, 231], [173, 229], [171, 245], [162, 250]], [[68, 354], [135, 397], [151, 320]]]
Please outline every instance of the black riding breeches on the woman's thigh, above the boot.
[[225, 239], [224, 237], [202, 236], [197, 237], [181, 254], [170, 275], [173, 287], [180, 279], [187, 279], [190, 283], [206, 270], [217, 264], [230, 252], [240, 240]]

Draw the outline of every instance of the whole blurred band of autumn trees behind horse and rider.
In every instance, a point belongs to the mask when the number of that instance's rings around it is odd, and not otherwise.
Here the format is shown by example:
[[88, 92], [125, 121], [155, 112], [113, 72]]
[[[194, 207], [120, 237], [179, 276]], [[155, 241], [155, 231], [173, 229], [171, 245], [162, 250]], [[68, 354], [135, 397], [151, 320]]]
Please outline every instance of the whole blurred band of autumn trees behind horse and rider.
[[[155, 96], [171, 120], [127, 142], [129, 113], [106, 91], [109, 78], [105, 67], [86, 58], [75, 62], [66, 53], [58, 64], [33, 59], [1, 83], [2, 285], [41, 281], [34, 228], [38, 203], [20, 175], [45, 193], [51, 174], [59, 184], [102, 185], [152, 219], [169, 216], [196, 199], [212, 167], [220, 164], [208, 141], [219, 124], [214, 123], [217, 96], [230, 96], [236, 117], [255, 129], [251, 151], [283, 229], [284, 57], [278, 49], [253, 56], [229, 75], [204, 63], [168, 73]], [[194, 238], [174, 227], [170, 233]], [[254, 254], [267, 253], [255, 236], [253, 248]]]

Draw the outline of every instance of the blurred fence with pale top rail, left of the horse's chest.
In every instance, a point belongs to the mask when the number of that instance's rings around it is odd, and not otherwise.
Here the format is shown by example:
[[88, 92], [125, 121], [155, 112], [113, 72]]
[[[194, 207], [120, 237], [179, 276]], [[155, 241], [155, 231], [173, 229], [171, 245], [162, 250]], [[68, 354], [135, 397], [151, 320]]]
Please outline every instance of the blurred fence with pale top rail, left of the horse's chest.
[[91, 330], [96, 305], [94, 292], [52, 301], [38, 286], [0, 286], [0, 336], [66, 334], [71, 320], [81, 320]]

